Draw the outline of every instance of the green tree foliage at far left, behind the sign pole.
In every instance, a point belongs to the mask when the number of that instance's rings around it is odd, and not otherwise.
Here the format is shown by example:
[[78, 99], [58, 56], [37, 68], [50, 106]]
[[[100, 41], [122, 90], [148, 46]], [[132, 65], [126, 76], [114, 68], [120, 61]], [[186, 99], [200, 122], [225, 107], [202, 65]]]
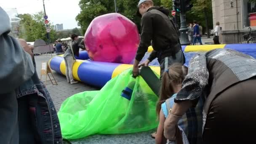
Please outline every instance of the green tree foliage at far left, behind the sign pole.
[[[19, 37], [28, 42], [33, 42], [37, 39], [43, 39], [45, 42], [48, 42], [43, 16], [44, 13], [42, 11], [34, 15], [20, 14], [21, 28]], [[54, 42], [56, 40], [56, 32], [51, 23], [49, 23], [48, 26], [51, 27], [50, 42]]]

